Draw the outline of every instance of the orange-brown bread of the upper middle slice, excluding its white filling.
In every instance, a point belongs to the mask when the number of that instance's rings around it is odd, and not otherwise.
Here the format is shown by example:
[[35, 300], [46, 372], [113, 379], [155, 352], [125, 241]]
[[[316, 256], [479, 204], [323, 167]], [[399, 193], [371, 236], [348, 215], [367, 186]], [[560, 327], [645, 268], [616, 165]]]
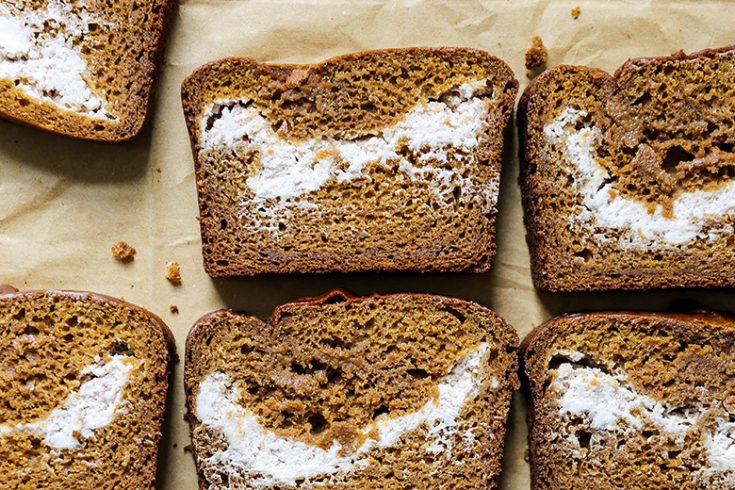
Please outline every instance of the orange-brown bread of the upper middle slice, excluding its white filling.
[[[488, 103], [487, 128], [469, 154], [450, 150], [448, 161], [438, 165], [469, 179], [472, 189], [440, 188], [429, 178], [409, 178], [396, 161], [374, 161], [366, 164], [362, 178], [332, 179], [308, 193], [306, 208], [289, 206], [276, 218], [258, 218], [263, 209], [250, 201], [246, 184], [259, 168], [257, 152], [205, 152], [201, 146], [200, 118], [217, 101], [252, 101], [248, 104], [286, 141], [322, 137], [359, 142], [402, 120], [417, 103], [450, 100], [460, 84], [478, 78], [487, 79], [477, 95]], [[503, 130], [516, 91], [517, 81], [505, 63], [465, 49], [375, 51], [316, 65], [225, 59], [200, 68], [184, 82], [182, 101], [196, 160], [207, 272], [216, 277], [487, 271], [495, 256]], [[408, 147], [399, 153], [424, 165]]]

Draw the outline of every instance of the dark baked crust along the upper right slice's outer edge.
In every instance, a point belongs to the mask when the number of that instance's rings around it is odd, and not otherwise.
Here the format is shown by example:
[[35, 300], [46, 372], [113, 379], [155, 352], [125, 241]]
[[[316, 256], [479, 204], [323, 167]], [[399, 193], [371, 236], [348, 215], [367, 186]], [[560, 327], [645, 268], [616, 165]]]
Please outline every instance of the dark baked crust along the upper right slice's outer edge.
[[541, 87], [546, 79], [553, 77], [559, 72], [567, 73], [586, 73], [591, 78], [609, 81], [617, 85], [617, 80], [627, 71], [633, 71], [638, 67], [649, 63], [665, 63], [669, 61], [686, 61], [705, 58], [714, 58], [722, 53], [735, 51], [735, 44], [724, 46], [721, 48], [711, 48], [697, 51], [691, 54], [685, 54], [679, 51], [671, 56], [659, 56], [648, 58], [631, 58], [623, 63], [613, 75], [587, 66], [576, 65], [559, 65], [549, 68], [541, 75], [531, 81], [531, 83], [523, 91], [518, 102], [517, 121], [518, 121], [518, 161], [519, 161], [519, 185], [521, 187], [521, 201], [523, 205], [523, 221], [526, 228], [526, 243], [528, 244], [529, 254], [531, 257], [531, 277], [534, 286], [543, 292], [548, 293], [571, 293], [571, 292], [589, 292], [589, 291], [650, 291], [653, 289], [685, 289], [685, 288], [730, 288], [735, 287], [735, 276], [730, 282], [724, 281], [724, 275], [715, 277], [699, 277], [696, 280], [682, 276], [665, 276], [663, 274], [649, 275], [645, 281], [638, 283], [624, 276], [605, 278], [605, 284], [585, 283], [584, 281], [575, 279], [567, 280], [563, 276], [545, 276], [546, 270], [542, 267], [543, 256], [545, 250], [542, 249], [537, 240], [537, 230], [540, 228], [538, 223], [539, 212], [534, 203], [534, 189], [529, 185], [527, 179], [528, 171], [534, 163], [533, 155], [530, 152], [529, 128], [532, 125], [539, 124], [538, 111], [535, 110], [536, 105], [544, 105], [544, 101], [537, 97], [536, 91]]

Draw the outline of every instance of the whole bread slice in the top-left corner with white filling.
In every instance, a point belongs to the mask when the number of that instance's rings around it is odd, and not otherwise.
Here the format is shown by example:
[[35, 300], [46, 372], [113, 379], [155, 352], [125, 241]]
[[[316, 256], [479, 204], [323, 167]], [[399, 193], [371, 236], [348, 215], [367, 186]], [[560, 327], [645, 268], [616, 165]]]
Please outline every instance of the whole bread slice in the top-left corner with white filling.
[[146, 116], [173, 0], [0, 5], [0, 117], [123, 141]]

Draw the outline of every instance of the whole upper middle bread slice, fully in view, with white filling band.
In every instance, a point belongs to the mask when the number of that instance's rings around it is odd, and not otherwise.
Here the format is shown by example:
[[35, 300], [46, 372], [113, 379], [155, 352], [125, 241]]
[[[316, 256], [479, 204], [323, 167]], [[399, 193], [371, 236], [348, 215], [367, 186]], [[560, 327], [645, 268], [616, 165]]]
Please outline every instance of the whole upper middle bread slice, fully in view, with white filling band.
[[471, 49], [199, 68], [182, 101], [207, 272], [487, 271], [517, 85]]

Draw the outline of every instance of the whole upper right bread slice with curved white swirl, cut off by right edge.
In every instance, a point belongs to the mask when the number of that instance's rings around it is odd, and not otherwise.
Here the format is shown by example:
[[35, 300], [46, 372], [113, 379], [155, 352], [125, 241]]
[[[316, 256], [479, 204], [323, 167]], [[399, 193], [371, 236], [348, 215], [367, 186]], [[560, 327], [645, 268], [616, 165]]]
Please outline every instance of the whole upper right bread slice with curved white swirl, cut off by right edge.
[[559, 66], [520, 107], [537, 287], [735, 286], [735, 47]]

